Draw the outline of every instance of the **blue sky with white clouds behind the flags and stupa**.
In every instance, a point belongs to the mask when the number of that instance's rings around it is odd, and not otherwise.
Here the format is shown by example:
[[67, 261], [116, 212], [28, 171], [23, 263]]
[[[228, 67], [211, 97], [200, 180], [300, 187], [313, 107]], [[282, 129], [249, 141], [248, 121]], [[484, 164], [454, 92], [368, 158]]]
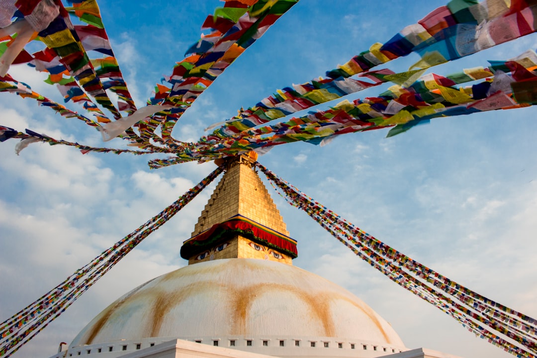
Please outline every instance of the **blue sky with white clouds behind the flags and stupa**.
[[[180, 140], [274, 90], [303, 83], [384, 42], [445, 3], [302, 0], [204, 92], [176, 126]], [[121, 70], [141, 106], [155, 83], [197, 41], [219, 1], [99, 1]], [[447, 75], [535, 50], [535, 34], [439, 65]], [[388, 63], [407, 70], [417, 56]], [[34, 91], [61, 101], [25, 65], [10, 70]], [[385, 87], [349, 99], [375, 96]], [[76, 105], [71, 109], [81, 111]], [[0, 96], [0, 124], [96, 147], [95, 129], [12, 94]], [[537, 316], [537, 110], [492, 111], [434, 119], [385, 138], [387, 130], [340, 136], [325, 147], [279, 145], [259, 162], [376, 238], [422, 264], [529, 316]], [[0, 316], [2, 320], [56, 286], [98, 253], [197, 184], [214, 164], [150, 171], [147, 157], [81, 155], [32, 144], [14, 154], [0, 144]], [[214, 188], [216, 183], [212, 185]], [[272, 193], [272, 188], [269, 186]], [[14, 357], [50, 356], [91, 318], [139, 284], [186, 265], [180, 245], [194, 228], [207, 190], [140, 244]], [[463, 357], [510, 356], [396, 286], [333, 239], [306, 214], [277, 203], [299, 242], [294, 265], [349, 289], [372, 306], [409, 348]]]

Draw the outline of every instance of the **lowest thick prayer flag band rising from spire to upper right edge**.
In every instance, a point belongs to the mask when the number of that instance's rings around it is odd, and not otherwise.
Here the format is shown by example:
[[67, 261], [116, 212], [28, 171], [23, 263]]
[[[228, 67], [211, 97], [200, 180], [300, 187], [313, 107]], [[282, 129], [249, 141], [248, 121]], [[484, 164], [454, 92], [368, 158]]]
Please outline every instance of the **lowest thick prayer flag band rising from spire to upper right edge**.
[[[246, 122], [231, 121], [212, 136], [202, 137], [199, 142], [184, 147], [174, 157], [150, 160], [149, 166], [158, 168], [191, 160], [211, 160], [297, 141], [323, 145], [336, 135], [394, 127], [388, 132], [389, 137], [433, 118], [525, 107], [531, 105], [532, 100], [537, 101], [535, 96], [528, 98], [532, 96], [531, 90], [525, 90], [526, 87], [531, 89], [537, 78], [533, 57], [537, 58], [537, 55], [527, 53], [517, 61], [494, 62], [488, 69], [476, 67], [446, 77], [425, 74], [407, 84], [408, 87], [396, 84], [378, 97], [352, 102], [344, 100], [328, 110], [310, 112], [285, 122], [267, 121], [251, 127], [251, 117], [246, 118]], [[401, 83], [401, 77], [396, 75], [384, 70], [368, 73], [379, 82], [396, 77]], [[476, 83], [458, 86], [468, 81]], [[513, 86], [523, 81], [529, 85], [520, 90]], [[523, 103], [516, 101], [517, 93], [519, 97], [526, 96]], [[279, 93], [280, 98], [291, 96], [289, 92]], [[293, 96], [297, 97], [296, 94]]]

